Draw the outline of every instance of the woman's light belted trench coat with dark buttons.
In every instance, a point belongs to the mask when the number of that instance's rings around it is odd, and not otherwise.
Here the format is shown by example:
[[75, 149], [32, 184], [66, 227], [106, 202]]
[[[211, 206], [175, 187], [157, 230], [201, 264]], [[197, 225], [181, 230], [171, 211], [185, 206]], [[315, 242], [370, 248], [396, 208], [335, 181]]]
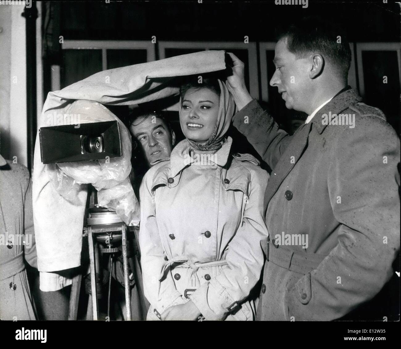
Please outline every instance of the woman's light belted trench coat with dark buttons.
[[[148, 319], [194, 302], [206, 320], [253, 320], [269, 175], [249, 154], [189, 149], [186, 139], [144, 176], [140, 248]], [[206, 154], [206, 156], [205, 156]]]

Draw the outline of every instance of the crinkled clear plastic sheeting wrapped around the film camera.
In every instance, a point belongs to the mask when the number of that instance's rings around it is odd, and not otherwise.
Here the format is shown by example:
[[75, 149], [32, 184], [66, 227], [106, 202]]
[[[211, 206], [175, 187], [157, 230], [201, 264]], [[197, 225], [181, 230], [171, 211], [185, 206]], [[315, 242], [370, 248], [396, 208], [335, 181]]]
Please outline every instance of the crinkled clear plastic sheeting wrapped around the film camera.
[[82, 184], [91, 183], [98, 191], [100, 206], [115, 211], [127, 225], [138, 225], [140, 209], [129, 180], [132, 168], [130, 132], [109, 109], [97, 102], [75, 101], [66, 113], [79, 115], [81, 124], [116, 120], [119, 124], [122, 156], [49, 165], [48, 174], [57, 192], [73, 204], [85, 204], [80, 201], [77, 193], [83, 189]]

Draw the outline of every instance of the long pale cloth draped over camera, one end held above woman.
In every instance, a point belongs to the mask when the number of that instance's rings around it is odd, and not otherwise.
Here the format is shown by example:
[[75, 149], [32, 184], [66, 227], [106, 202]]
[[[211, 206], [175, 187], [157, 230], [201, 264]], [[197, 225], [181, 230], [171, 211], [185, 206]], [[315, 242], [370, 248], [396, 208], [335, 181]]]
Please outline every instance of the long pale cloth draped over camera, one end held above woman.
[[[224, 54], [224, 51], [202, 51], [96, 73], [61, 91], [50, 92], [38, 127], [57, 125], [55, 115], [61, 114], [63, 119], [66, 115], [71, 116], [67, 109], [79, 99], [109, 105], [135, 105], [178, 95], [178, 87], [169, 85], [174, 77], [223, 70], [225, 69]], [[87, 122], [97, 121], [95, 115], [93, 119], [89, 117], [87, 120]], [[73, 123], [76, 123], [74, 118], [69, 124]], [[61, 164], [57, 166], [63, 169], [63, 173], [67, 170]], [[38, 269], [42, 272], [75, 268], [81, 264], [82, 228], [87, 190], [84, 186], [79, 188], [75, 186], [75, 192], [61, 194], [52, 184], [52, 178], [55, 175], [52, 167], [55, 170], [55, 165], [44, 165], [41, 162], [39, 137], [36, 137], [33, 213]], [[89, 172], [87, 176], [90, 176]], [[69, 176], [65, 179], [71, 180], [71, 178]], [[98, 185], [98, 188], [100, 187]], [[118, 196], [117, 191], [106, 187], [104, 187], [104, 194], [107, 198], [113, 195]], [[75, 200], [69, 200], [69, 195], [74, 195]], [[102, 195], [98, 196], [100, 205], [105, 204], [102, 201], [105, 196], [103, 198]], [[117, 204], [119, 201], [118, 197], [114, 197], [113, 200], [109, 202], [109, 205]], [[118, 209], [117, 214], [121, 214]], [[127, 217], [120, 217], [127, 222]]]

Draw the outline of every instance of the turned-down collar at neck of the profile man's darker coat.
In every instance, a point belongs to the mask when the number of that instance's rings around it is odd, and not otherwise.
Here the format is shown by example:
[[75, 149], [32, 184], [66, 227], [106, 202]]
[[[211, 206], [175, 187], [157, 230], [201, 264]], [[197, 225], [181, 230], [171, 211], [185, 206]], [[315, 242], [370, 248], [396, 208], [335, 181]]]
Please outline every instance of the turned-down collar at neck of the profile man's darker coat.
[[[343, 90], [342, 90], [343, 91]], [[316, 130], [319, 134], [322, 134], [327, 125], [323, 125], [322, 123], [322, 115], [328, 114], [339, 114], [345, 109], [348, 109], [350, 104], [362, 101], [362, 97], [358, 95], [358, 92], [355, 89], [347, 89], [344, 92], [338, 93], [333, 99], [324, 105], [318, 112], [315, 114], [313, 119], [310, 121], [316, 127]]]

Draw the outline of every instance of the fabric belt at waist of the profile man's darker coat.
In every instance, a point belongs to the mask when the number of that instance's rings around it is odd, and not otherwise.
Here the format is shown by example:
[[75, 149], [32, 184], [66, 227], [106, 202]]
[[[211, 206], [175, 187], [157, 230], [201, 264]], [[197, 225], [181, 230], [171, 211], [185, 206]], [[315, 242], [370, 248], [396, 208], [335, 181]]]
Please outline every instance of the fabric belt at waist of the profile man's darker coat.
[[[271, 242], [268, 244], [270, 245]], [[282, 246], [278, 248], [269, 246], [268, 251], [269, 262], [300, 274], [308, 274], [316, 269], [327, 256], [326, 254], [291, 251]]]

